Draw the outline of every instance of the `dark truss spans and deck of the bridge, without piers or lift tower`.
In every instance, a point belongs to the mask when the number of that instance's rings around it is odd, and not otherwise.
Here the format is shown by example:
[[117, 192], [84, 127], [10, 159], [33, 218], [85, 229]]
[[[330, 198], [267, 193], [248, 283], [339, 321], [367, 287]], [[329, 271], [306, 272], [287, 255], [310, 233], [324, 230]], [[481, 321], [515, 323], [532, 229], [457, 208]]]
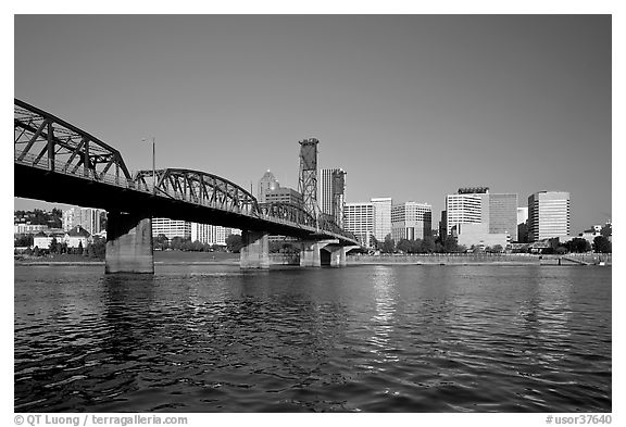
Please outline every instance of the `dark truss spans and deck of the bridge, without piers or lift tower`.
[[317, 221], [304, 206], [259, 203], [206, 172], [165, 168], [133, 176], [120, 151], [17, 99], [14, 121], [16, 197], [360, 246], [354, 235]]

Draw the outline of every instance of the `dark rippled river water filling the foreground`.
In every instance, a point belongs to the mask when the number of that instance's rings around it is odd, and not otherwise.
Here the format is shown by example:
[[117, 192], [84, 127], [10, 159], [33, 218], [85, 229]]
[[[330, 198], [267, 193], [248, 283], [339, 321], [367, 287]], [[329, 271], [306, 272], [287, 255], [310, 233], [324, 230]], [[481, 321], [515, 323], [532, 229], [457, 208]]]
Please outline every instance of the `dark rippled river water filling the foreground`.
[[15, 267], [20, 412], [610, 412], [611, 268]]

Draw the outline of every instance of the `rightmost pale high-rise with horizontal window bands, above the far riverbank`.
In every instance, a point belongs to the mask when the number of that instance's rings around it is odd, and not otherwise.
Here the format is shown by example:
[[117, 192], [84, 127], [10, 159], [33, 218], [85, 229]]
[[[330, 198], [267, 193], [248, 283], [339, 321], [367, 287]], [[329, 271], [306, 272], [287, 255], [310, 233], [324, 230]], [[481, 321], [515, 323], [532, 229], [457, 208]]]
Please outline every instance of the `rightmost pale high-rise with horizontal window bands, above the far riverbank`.
[[539, 191], [528, 197], [528, 241], [569, 236], [571, 204], [566, 191]]

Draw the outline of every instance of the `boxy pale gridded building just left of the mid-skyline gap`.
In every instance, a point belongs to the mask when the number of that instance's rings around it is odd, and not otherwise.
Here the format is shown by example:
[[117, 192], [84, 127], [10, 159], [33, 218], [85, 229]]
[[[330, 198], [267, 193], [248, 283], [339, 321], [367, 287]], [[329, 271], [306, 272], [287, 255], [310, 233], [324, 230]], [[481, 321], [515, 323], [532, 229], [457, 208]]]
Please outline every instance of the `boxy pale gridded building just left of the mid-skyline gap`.
[[433, 206], [427, 203], [404, 202], [391, 206], [391, 236], [415, 240], [431, 236]]

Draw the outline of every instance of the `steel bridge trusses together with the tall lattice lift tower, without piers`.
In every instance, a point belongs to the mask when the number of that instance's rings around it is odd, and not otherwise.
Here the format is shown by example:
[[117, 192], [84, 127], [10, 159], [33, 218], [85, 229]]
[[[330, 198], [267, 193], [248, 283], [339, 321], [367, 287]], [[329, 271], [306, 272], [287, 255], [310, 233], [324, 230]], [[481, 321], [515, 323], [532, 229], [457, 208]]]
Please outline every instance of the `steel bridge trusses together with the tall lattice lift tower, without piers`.
[[[300, 187], [305, 196], [304, 205], [260, 204], [240, 186], [204, 172], [166, 168], [154, 174], [140, 171], [132, 176], [122, 154], [113, 147], [50, 113], [18, 99], [14, 101], [14, 161], [21, 177], [15, 185], [17, 197], [139, 210], [147, 209], [148, 204], [156, 206], [163, 198], [187, 202], [191, 209], [208, 206], [222, 215], [242, 215], [253, 219], [256, 227], [278, 224], [281, 230], [301, 236], [323, 238], [320, 231], [325, 231], [334, 238], [356, 241], [354, 235], [330, 218], [316, 217], [316, 139], [300, 142], [303, 146]], [[86, 187], [92, 185], [97, 187]], [[73, 187], [80, 187], [83, 191], [72, 191]]]

